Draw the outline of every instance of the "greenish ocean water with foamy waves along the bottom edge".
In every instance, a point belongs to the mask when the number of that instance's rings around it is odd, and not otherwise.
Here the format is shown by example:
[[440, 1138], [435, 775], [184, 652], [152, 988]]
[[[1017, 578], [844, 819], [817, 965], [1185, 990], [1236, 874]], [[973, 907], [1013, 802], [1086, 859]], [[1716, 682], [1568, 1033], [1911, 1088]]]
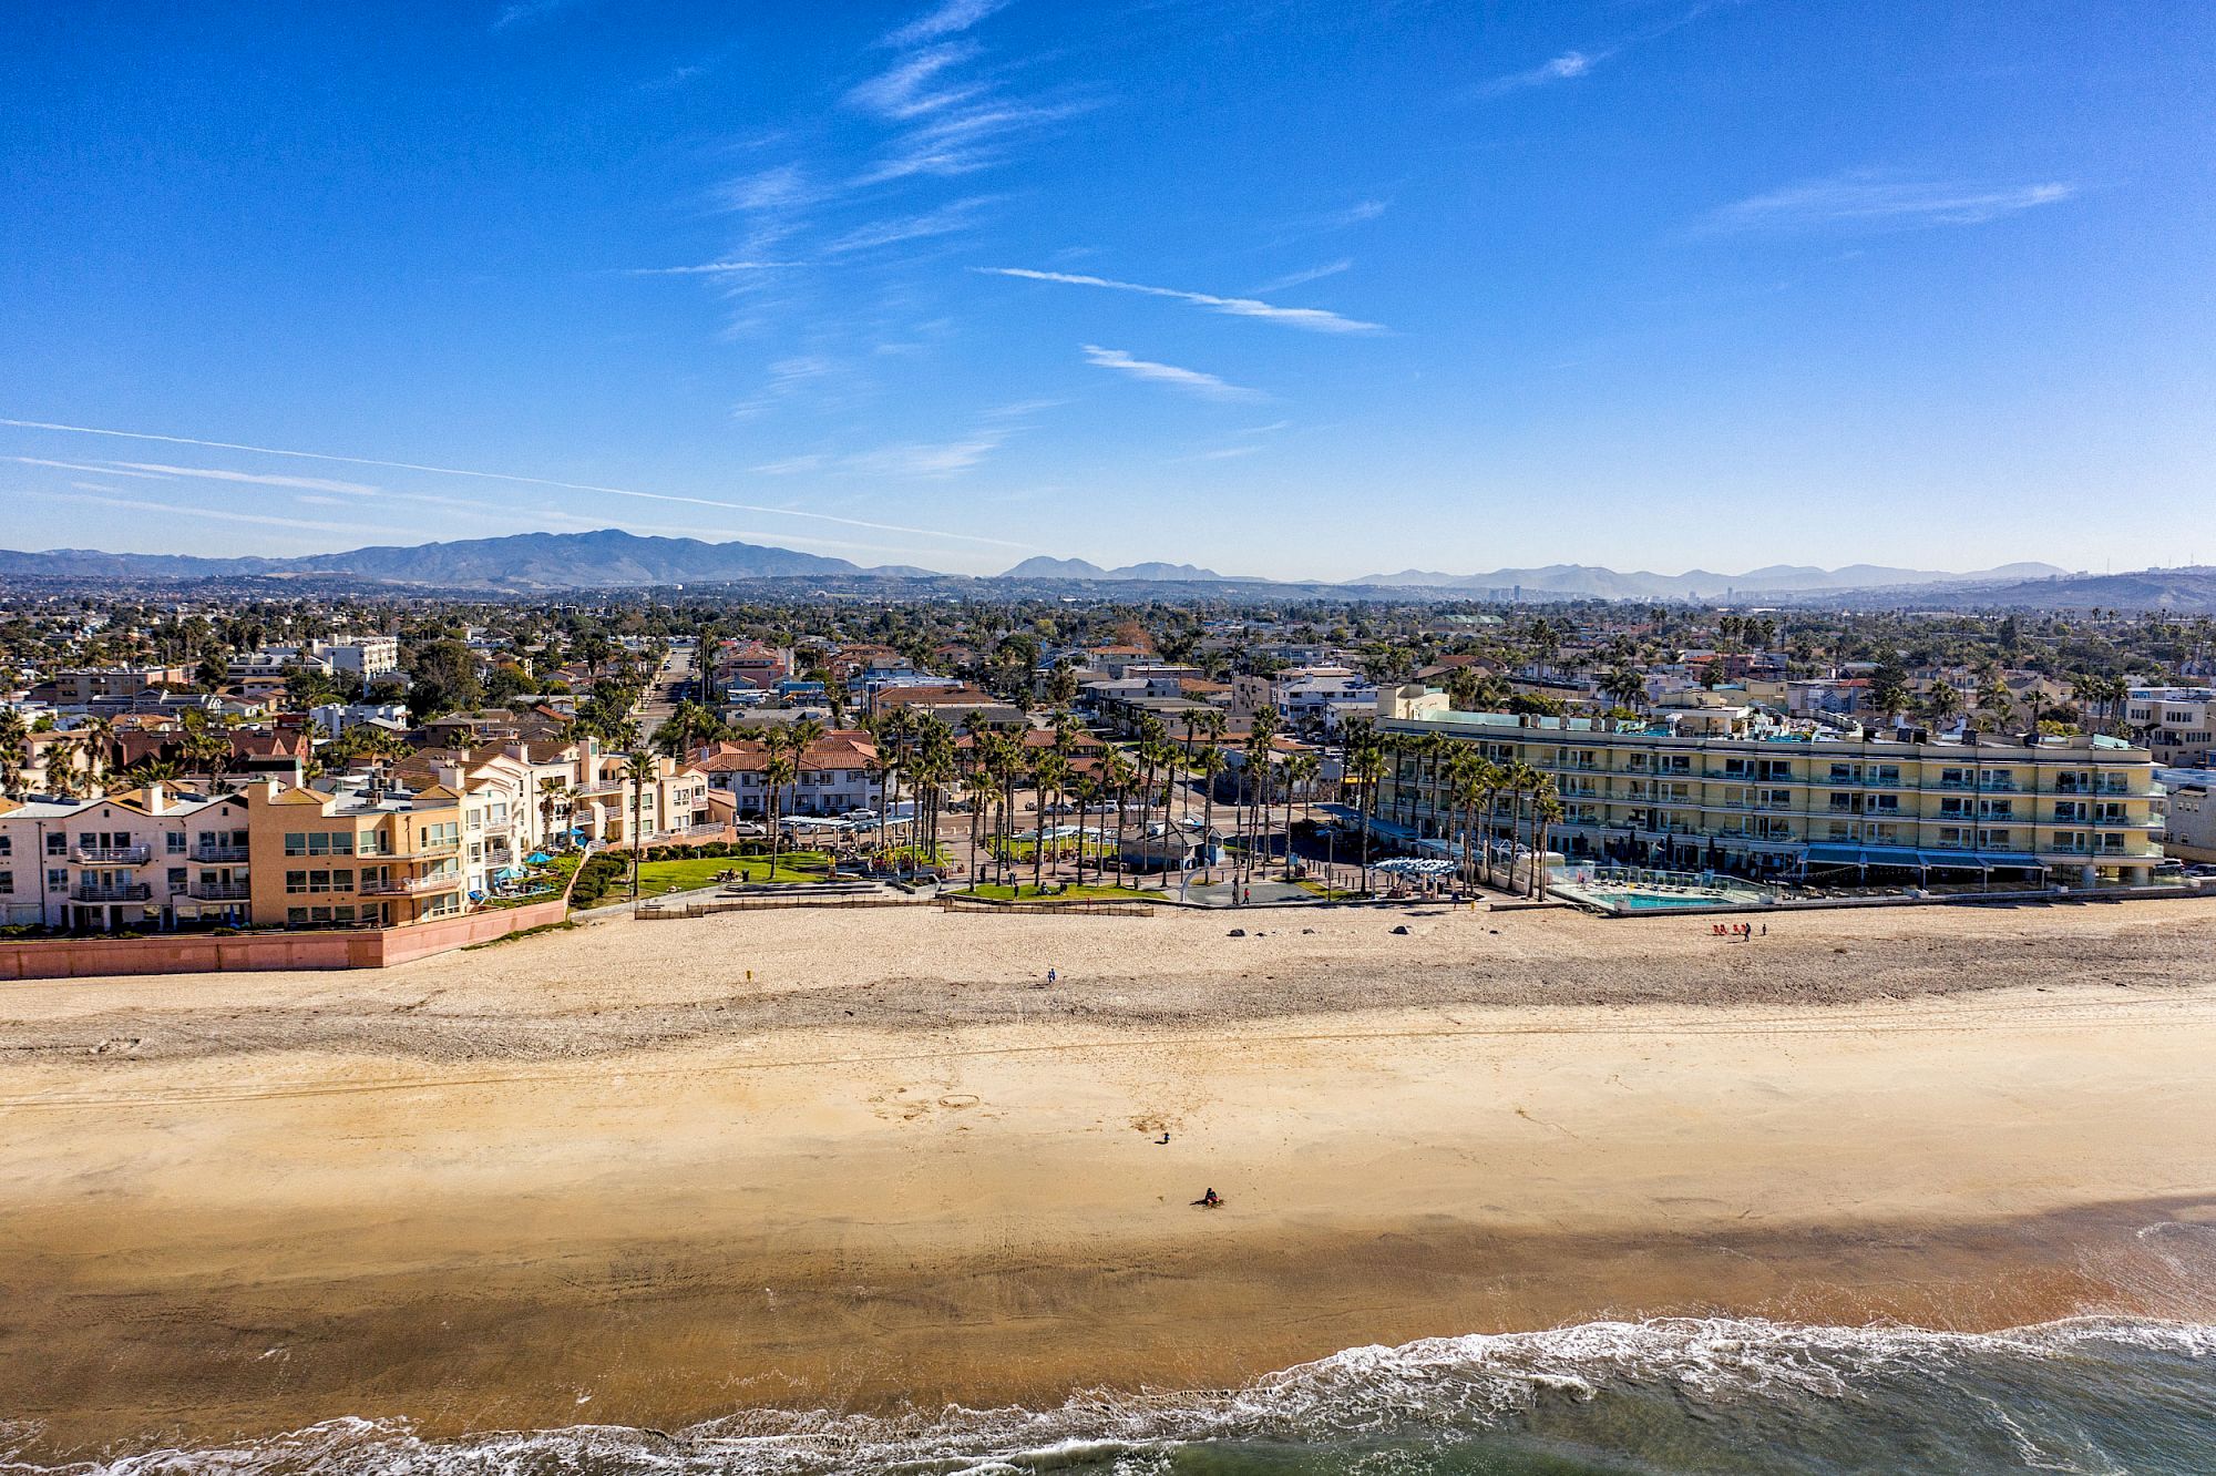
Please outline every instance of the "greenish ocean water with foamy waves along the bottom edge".
[[[1870, 1476], [2216, 1472], [2216, 1328], [2068, 1319], [1994, 1334], [1766, 1321], [1587, 1323], [1350, 1347], [1239, 1390], [1088, 1394], [1048, 1410], [747, 1412], [685, 1429], [425, 1441], [330, 1421], [31, 1476]], [[9, 1443], [18, 1452], [9, 1452]]]

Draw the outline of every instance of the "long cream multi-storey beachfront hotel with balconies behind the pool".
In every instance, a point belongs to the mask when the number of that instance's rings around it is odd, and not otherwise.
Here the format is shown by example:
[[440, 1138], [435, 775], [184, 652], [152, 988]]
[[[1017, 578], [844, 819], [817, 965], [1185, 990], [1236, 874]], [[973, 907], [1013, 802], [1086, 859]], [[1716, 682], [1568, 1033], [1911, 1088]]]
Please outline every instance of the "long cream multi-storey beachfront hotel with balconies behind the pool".
[[1454, 711], [1423, 685], [1381, 694], [1376, 727], [1394, 745], [1378, 816], [1409, 838], [1456, 827], [1440, 765], [1409, 742], [1438, 736], [1553, 778], [1562, 822], [1549, 849], [1569, 858], [2076, 886], [2145, 884], [2163, 860], [2154, 758], [2116, 738], [1835, 738], [1709, 705], [1640, 720]]

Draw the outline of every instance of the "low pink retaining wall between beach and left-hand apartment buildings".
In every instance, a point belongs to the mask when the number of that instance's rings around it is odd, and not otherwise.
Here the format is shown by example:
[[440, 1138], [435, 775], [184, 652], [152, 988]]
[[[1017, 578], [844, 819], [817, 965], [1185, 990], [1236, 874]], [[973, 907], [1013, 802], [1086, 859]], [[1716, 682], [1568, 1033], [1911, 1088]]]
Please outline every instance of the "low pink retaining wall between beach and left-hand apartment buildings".
[[206, 937], [44, 937], [0, 944], [0, 980], [80, 980], [109, 973], [219, 973], [233, 968], [386, 968], [448, 949], [561, 922], [567, 898], [359, 933], [244, 933]]

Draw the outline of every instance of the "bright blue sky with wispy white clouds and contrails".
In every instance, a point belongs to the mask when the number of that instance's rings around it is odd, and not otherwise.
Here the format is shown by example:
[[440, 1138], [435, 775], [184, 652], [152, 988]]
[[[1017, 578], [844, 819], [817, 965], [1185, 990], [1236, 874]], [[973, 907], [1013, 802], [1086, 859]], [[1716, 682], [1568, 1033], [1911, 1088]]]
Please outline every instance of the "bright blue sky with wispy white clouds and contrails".
[[2216, 561], [2212, 184], [2185, 0], [11, 7], [0, 545]]

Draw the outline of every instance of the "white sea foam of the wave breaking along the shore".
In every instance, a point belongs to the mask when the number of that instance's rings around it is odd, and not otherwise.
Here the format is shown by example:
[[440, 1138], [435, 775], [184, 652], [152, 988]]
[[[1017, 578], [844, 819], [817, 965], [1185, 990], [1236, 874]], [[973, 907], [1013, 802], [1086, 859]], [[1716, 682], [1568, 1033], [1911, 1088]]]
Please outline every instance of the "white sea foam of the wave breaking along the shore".
[[[1580, 1323], [1547, 1332], [1347, 1347], [1223, 1392], [1086, 1392], [1048, 1410], [833, 1414], [747, 1410], [678, 1432], [570, 1425], [425, 1441], [406, 1421], [341, 1418], [266, 1441], [155, 1449], [104, 1463], [35, 1467], [9, 1452], [27, 1427], [0, 1425], [0, 1476], [674, 1476], [1035, 1474], [1061, 1467], [1146, 1472], [1192, 1441], [1345, 1441], [1465, 1434], [1542, 1401], [1604, 1390], [1666, 1390], [1713, 1407], [1764, 1398], [1857, 1398], [1886, 1376], [1948, 1376], [1994, 1359], [2054, 1361], [2132, 1350], [2216, 1356], [2216, 1328], [2076, 1316], [1992, 1334], [1906, 1325], [1822, 1328], [1757, 1319]], [[2021, 1429], [2012, 1438], [2030, 1441]]]

